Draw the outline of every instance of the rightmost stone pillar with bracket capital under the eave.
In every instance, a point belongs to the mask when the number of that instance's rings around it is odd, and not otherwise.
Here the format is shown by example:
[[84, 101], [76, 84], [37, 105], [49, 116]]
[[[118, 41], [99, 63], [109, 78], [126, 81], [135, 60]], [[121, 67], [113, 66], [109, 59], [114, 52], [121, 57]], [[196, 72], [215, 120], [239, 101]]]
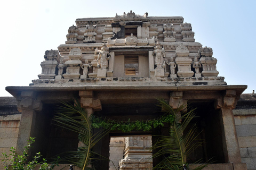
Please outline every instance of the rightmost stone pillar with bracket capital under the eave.
[[237, 100], [238, 97], [236, 96], [235, 90], [226, 90], [225, 96], [215, 101], [215, 109], [220, 109], [221, 113], [220, 121], [222, 125], [222, 144], [225, 163], [233, 163], [236, 165], [241, 163], [241, 155], [233, 115], [233, 109], [236, 106]]

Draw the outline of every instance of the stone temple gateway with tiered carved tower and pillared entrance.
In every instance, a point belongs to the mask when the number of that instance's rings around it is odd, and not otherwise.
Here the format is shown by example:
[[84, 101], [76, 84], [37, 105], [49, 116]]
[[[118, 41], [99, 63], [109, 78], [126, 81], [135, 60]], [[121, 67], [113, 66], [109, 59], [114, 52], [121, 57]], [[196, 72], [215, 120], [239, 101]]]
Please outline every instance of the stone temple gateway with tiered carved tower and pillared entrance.
[[[181, 16], [130, 11], [109, 18], [76, 19], [65, 44], [39, 56], [44, 61], [38, 79], [27, 87], [6, 87], [21, 114], [13, 111], [0, 119], [17, 124], [8, 126], [14, 130], [0, 139], [4, 141], [0, 148], [14, 146], [21, 154], [29, 137], [35, 137], [31, 155], [40, 151], [49, 159], [63, 151], [76, 151], [78, 134], [51, 124], [60, 101], [78, 100], [88, 114], [137, 121], [157, 117], [161, 112], [157, 99], [164, 99], [173, 109], [181, 105], [197, 108], [193, 123], [204, 142], [189, 156], [189, 163], [213, 158], [205, 170], [250, 169], [244, 148], [254, 148], [256, 143], [246, 144], [247, 138], [238, 133], [246, 114], [235, 109], [247, 86], [227, 85], [216, 66], [220, 56], [197, 43], [194, 35], [191, 23], [183, 22]], [[256, 109], [251, 109], [247, 115], [256, 119]], [[121, 170], [153, 169], [160, 160], [151, 158], [150, 147], [168, 129], [165, 125], [146, 132], [110, 131], [94, 151]], [[104, 160], [95, 167], [115, 169]]]

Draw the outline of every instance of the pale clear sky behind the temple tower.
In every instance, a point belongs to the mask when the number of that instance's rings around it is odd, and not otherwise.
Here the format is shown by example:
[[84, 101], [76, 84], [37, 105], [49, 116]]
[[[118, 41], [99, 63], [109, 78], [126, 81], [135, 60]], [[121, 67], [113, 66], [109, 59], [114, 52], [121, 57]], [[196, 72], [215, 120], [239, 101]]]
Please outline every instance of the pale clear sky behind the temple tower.
[[196, 42], [213, 49], [219, 76], [229, 85], [256, 90], [256, 1], [4, 1], [0, 7], [0, 96], [6, 86], [38, 79], [47, 49], [65, 44], [77, 18], [114, 17], [132, 10], [148, 16], [183, 16]]

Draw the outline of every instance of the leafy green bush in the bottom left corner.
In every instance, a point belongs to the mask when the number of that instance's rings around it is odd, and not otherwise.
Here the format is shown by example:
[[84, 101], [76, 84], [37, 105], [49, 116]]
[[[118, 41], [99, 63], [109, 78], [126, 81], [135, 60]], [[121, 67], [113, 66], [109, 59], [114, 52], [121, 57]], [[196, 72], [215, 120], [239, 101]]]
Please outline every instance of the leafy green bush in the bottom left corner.
[[23, 151], [22, 155], [17, 155], [16, 150], [14, 147], [11, 147], [10, 151], [12, 154], [7, 155], [6, 152], [2, 153], [3, 156], [2, 162], [5, 166], [6, 170], [33, 170], [35, 167], [39, 164], [42, 164], [39, 169], [41, 170], [52, 170], [55, 166], [58, 165], [58, 159], [56, 162], [52, 165], [49, 165], [46, 163], [46, 159], [43, 158], [42, 162], [39, 162], [39, 159], [42, 157], [41, 153], [38, 152], [34, 157], [31, 162], [27, 162], [27, 157], [28, 157], [28, 150], [31, 147], [31, 144], [35, 142], [35, 138], [29, 138], [28, 144], [25, 147], [25, 150]]

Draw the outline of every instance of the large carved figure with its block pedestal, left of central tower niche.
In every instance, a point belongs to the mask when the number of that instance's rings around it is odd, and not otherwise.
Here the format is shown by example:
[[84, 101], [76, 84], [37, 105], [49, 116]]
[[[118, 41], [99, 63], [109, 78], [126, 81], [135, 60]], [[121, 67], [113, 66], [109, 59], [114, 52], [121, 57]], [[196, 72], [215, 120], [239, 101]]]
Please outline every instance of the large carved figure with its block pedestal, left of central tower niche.
[[107, 46], [104, 43], [100, 50], [100, 53], [97, 58], [97, 67], [98, 67], [98, 78], [105, 78], [107, 75], [108, 61], [110, 58], [110, 54], [107, 51]]

